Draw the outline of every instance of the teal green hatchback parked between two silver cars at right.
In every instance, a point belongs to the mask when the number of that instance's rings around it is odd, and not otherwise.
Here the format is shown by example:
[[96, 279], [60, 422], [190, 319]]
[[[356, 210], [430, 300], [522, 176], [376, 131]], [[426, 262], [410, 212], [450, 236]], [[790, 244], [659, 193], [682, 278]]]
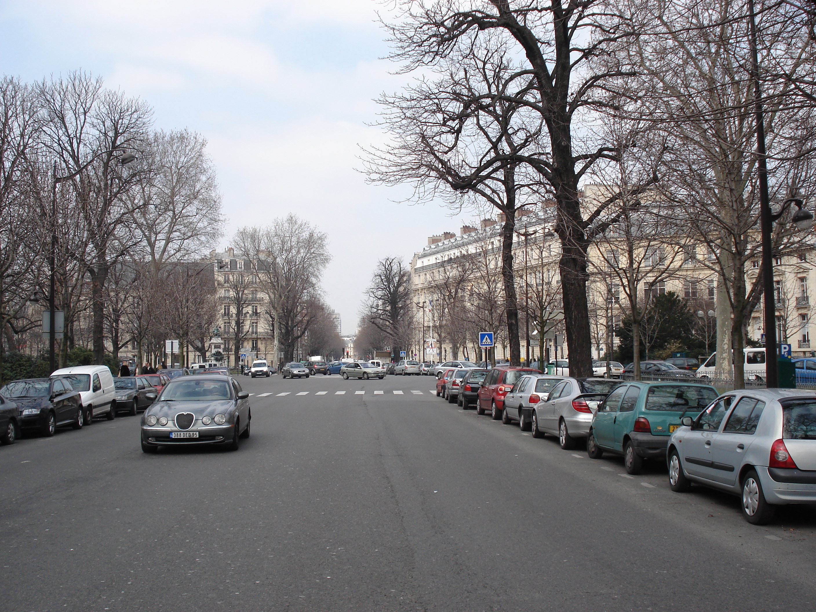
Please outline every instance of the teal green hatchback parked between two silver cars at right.
[[666, 460], [669, 436], [680, 419], [694, 419], [719, 395], [707, 384], [639, 383], [614, 388], [592, 417], [587, 452], [623, 455], [630, 474], [639, 474], [643, 459]]

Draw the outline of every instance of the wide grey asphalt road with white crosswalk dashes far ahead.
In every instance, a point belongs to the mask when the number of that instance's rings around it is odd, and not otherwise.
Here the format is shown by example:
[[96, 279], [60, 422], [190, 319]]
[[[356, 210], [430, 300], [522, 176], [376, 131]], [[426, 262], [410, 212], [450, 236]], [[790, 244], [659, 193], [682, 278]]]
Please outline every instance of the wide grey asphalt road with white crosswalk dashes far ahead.
[[816, 603], [810, 508], [750, 526], [736, 498], [674, 494], [659, 466], [627, 477], [459, 410], [428, 377], [240, 380], [237, 452], [144, 455], [124, 416], [0, 448], [0, 610]]

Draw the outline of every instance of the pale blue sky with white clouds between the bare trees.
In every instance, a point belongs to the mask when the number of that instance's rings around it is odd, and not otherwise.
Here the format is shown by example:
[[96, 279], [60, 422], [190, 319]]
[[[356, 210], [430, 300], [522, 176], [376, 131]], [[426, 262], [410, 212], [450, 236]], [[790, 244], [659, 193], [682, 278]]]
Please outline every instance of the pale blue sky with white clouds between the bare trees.
[[205, 135], [226, 236], [289, 212], [328, 236], [326, 300], [353, 332], [377, 259], [410, 259], [461, 219], [366, 185], [360, 146], [384, 142], [371, 100], [407, 81], [375, 0], [0, 0], [0, 69], [26, 81], [83, 69], [138, 95], [155, 124]]

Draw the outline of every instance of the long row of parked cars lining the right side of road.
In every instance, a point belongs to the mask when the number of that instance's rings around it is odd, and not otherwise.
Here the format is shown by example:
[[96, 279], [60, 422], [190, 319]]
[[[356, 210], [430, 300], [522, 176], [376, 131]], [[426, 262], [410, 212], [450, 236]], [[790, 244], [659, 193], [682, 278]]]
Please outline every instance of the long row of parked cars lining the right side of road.
[[[694, 375], [694, 370], [684, 370]], [[743, 517], [761, 525], [788, 503], [816, 504], [816, 392], [716, 388], [677, 377], [642, 382], [545, 375], [514, 366], [449, 368], [437, 397], [562, 449], [586, 440], [587, 454], [623, 457], [629, 474], [666, 462], [668, 484], [738, 495]]]

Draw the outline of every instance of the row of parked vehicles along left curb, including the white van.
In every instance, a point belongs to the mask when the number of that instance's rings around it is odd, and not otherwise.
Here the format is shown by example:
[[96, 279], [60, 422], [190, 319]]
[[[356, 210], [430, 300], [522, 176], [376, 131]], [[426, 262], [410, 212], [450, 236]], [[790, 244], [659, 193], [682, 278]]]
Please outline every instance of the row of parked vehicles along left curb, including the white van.
[[12, 444], [23, 433], [51, 437], [56, 428], [82, 429], [96, 417], [136, 415], [153, 402], [164, 374], [114, 378], [107, 366], [56, 370], [50, 378], [12, 380], [0, 388], [0, 443]]

